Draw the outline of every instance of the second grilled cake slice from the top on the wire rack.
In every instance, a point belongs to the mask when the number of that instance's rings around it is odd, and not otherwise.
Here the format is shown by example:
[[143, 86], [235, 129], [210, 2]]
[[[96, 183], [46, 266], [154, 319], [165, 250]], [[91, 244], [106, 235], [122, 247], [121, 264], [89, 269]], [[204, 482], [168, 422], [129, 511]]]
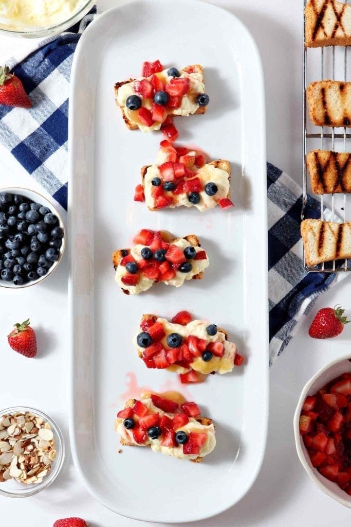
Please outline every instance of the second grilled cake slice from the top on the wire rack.
[[316, 126], [351, 126], [351, 82], [312, 82], [307, 102], [309, 118]]

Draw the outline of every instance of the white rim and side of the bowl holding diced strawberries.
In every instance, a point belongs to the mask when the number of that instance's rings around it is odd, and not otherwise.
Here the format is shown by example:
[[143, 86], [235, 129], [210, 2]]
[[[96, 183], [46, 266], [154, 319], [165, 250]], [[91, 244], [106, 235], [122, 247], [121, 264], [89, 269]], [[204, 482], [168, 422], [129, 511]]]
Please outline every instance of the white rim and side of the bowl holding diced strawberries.
[[[323, 476], [318, 477], [316, 469], [314, 469], [312, 466], [309, 465], [305, 452], [303, 450], [303, 440], [302, 435], [300, 435], [299, 431], [299, 418], [300, 413], [302, 410], [302, 406], [304, 404], [305, 398], [307, 396], [307, 393], [310, 389], [310, 387], [315, 383], [315, 381], [328, 369], [332, 368], [335, 364], [338, 364], [340, 362], [344, 362], [345, 360], [348, 360], [351, 358], [351, 353], [347, 353], [346, 355], [342, 355], [336, 359], [331, 360], [329, 363], [327, 363], [325, 366], [320, 368], [305, 384], [304, 388], [302, 389], [302, 392], [300, 394], [300, 397], [298, 399], [298, 403], [296, 405], [295, 414], [294, 414], [294, 436], [295, 436], [295, 446], [297, 455], [299, 457], [299, 460], [304, 467], [305, 471], [309, 475], [310, 479], [317, 485], [317, 487], [322, 490], [325, 494], [332, 497], [334, 500], [339, 502], [340, 504], [344, 505], [345, 507], [351, 509], [351, 496], [348, 496], [345, 493], [345, 497], [339, 496], [336, 492], [334, 492], [332, 489], [329, 489], [322, 481]], [[327, 480], [328, 481], [328, 480]], [[339, 489], [336, 483], [329, 482], [332, 485], [336, 485], [336, 487]]]

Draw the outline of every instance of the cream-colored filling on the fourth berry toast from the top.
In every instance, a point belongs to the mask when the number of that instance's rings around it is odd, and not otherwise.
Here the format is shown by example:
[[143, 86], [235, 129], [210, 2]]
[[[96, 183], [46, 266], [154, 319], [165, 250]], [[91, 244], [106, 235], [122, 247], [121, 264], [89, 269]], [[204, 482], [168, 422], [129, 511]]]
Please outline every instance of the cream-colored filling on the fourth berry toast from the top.
[[[183, 338], [187, 338], [189, 337], [189, 335], [193, 335], [195, 337], [206, 340], [208, 343], [222, 342], [222, 344], [224, 345], [224, 354], [222, 357], [217, 357], [216, 355], [213, 355], [211, 360], [205, 362], [200, 356], [196, 357], [194, 361], [190, 363], [190, 367], [188, 369], [182, 366], [178, 366], [176, 364], [172, 364], [172, 366], [169, 366], [166, 369], [169, 369], [172, 372], [176, 373], [185, 373], [193, 369], [196, 372], [200, 372], [205, 375], [211, 372], [216, 372], [222, 375], [224, 373], [229, 373], [233, 370], [236, 346], [234, 343], [228, 342], [228, 340], [225, 339], [225, 335], [222, 331], [218, 330], [216, 335], [208, 335], [206, 331], [208, 323], [204, 320], [192, 320], [186, 326], [181, 326], [180, 324], [173, 324], [172, 322], [169, 322], [166, 318], [157, 318], [157, 322], [163, 325], [164, 331], [166, 333], [165, 337], [161, 340], [161, 343], [165, 349], [169, 349], [169, 346], [167, 345], [167, 336], [171, 333], [178, 333]], [[136, 336], [134, 339], [134, 344], [136, 345], [138, 352], [143, 353], [144, 349], [140, 348], [136, 343]]]

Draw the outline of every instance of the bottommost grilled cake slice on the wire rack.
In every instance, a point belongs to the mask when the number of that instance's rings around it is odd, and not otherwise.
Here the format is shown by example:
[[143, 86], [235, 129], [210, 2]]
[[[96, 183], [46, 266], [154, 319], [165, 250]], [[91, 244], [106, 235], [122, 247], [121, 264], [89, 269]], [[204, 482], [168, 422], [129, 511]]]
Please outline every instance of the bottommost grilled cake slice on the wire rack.
[[351, 258], [351, 222], [304, 220], [301, 236], [309, 266]]

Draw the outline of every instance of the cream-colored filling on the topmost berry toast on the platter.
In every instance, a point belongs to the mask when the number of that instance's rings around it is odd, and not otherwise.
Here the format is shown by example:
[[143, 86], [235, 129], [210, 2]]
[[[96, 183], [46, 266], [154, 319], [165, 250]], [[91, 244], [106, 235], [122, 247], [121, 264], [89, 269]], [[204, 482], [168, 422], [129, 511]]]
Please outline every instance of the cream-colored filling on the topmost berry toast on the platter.
[[[203, 75], [201, 73], [187, 73], [183, 70], [179, 71], [180, 77], [183, 79], [187, 77], [189, 79], [190, 87], [186, 95], [182, 97], [182, 101], [180, 103], [179, 108], [167, 108], [167, 113], [172, 115], [190, 115], [195, 113], [199, 105], [196, 104], [196, 96], [199, 93], [205, 93], [205, 85], [203, 82]], [[167, 75], [167, 70], [164, 70], [162, 72], [156, 73], [156, 75], [164, 82], [168, 83], [170, 82], [173, 77], [170, 77]], [[136, 80], [142, 80], [144, 77], [138, 77]], [[151, 79], [151, 77], [147, 77], [147, 79]], [[129, 97], [129, 95], [138, 95], [134, 91], [133, 88], [134, 81], [128, 82], [127, 84], [123, 84], [121, 87], [118, 88], [117, 91], [117, 103], [121, 108], [123, 109], [124, 113], [126, 114], [127, 118], [132, 121], [133, 123], [136, 123], [142, 132], [149, 132], [151, 130], [159, 130], [161, 128], [162, 123], [155, 122], [151, 126], [146, 126], [145, 124], [142, 124], [138, 119], [138, 110], [129, 110], [129, 108], [126, 107], [126, 100]], [[152, 109], [152, 99], [145, 99], [142, 100], [142, 106], [145, 106], [148, 110]]]

